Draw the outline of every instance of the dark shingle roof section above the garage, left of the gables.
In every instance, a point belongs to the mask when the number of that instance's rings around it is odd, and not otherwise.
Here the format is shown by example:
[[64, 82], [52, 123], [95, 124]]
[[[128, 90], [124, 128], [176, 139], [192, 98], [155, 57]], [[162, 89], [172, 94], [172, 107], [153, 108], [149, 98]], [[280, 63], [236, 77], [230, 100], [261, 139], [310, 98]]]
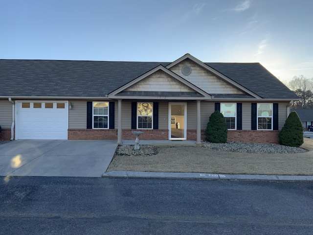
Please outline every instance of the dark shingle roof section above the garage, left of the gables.
[[[0, 96], [103, 97], [158, 62], [0, 60]], [[165, 63], [167, 65], [169, 63]], [[162, 64], [163, 65], [163, 64]]]

